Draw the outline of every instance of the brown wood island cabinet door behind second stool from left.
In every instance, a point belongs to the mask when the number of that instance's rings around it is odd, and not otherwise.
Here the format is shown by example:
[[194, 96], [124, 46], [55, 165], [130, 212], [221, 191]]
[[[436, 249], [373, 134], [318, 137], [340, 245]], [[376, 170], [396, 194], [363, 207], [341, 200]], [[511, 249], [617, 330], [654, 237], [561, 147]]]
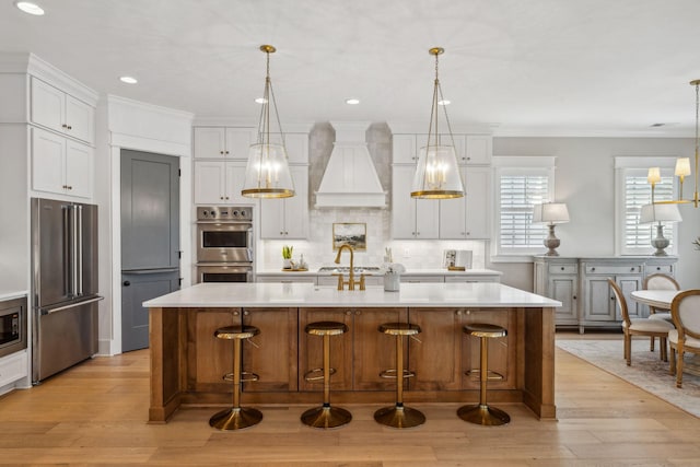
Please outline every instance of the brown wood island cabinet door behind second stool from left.
[[[324, 365], [320, 336], [305, 332], [306, 325], [314, 322], [340, 322], [348, 326], [348, 332], [330, 336], [330, 367], [336, 373], [330, 376], [330, 390], [352, 389], [352, 310], [342, 308], [299, 308], [299, 390], [323, 390], [323, 382], [307, 382], [304, 375]], [[316, 374], [317, 376], [320, 373]]]

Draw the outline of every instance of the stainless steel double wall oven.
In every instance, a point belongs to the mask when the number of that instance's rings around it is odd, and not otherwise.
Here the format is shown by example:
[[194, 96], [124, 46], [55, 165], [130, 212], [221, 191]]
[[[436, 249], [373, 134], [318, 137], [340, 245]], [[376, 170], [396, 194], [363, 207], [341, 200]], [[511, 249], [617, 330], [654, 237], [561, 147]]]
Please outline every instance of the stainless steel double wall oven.
[[197, 208], [197, 282], [253, 281], [253, 208]]

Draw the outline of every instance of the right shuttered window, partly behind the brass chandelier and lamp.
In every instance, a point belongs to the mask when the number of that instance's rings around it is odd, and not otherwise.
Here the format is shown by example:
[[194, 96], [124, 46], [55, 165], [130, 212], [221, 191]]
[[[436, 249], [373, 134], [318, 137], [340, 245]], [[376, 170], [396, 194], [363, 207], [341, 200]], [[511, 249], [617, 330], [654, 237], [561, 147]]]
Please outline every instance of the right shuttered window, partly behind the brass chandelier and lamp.
[[[655, 225], [640, 224], [640, 212], [652, 202], [652, 187], [646, 182], [649, 167], [661, 167], [661, 182], [654, 189], [654, 200], [674, 198], [675, 157], [615, 157], [617, 170], [616, 237], [619, 255], [650, 255], [654, 252], [651, 241], [656, 236]], [[675, 252], [675, 225], [664, 222], [664, 236], [670, 241], [666, 252]]]

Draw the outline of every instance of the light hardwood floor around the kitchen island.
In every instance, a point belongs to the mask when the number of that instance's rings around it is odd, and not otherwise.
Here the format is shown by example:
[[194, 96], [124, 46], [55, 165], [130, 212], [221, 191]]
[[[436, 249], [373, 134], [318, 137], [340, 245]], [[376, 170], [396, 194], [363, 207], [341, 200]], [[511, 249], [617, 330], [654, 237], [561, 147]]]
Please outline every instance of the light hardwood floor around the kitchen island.
[[0, 464], [700, 466], [700, 419], [559, 349], [556, 358], [558, 421], [506, 404], [509, 425], [478, 427], [456, 417], [457, 404], [424, 404], [415, 407], [427, 423], [397, 431], [373, 420], [378, 407], [349, 405], [352, 422], [327, 432], [300, 423], [307, 406], [261, 406], [262, 422], [240, 432], [209, 428], [212, 407], [148, 424], [148, 351], [96, 358], [0, 397]]

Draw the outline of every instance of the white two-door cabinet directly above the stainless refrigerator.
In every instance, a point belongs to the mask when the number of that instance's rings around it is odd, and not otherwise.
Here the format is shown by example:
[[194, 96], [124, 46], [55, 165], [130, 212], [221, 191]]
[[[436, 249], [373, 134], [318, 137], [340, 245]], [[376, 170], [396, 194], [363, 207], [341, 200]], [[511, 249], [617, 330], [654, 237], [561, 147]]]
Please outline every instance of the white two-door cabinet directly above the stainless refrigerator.
[[32, 189], [92, 197], [94, 150], [39, 128], [32, 128]]

